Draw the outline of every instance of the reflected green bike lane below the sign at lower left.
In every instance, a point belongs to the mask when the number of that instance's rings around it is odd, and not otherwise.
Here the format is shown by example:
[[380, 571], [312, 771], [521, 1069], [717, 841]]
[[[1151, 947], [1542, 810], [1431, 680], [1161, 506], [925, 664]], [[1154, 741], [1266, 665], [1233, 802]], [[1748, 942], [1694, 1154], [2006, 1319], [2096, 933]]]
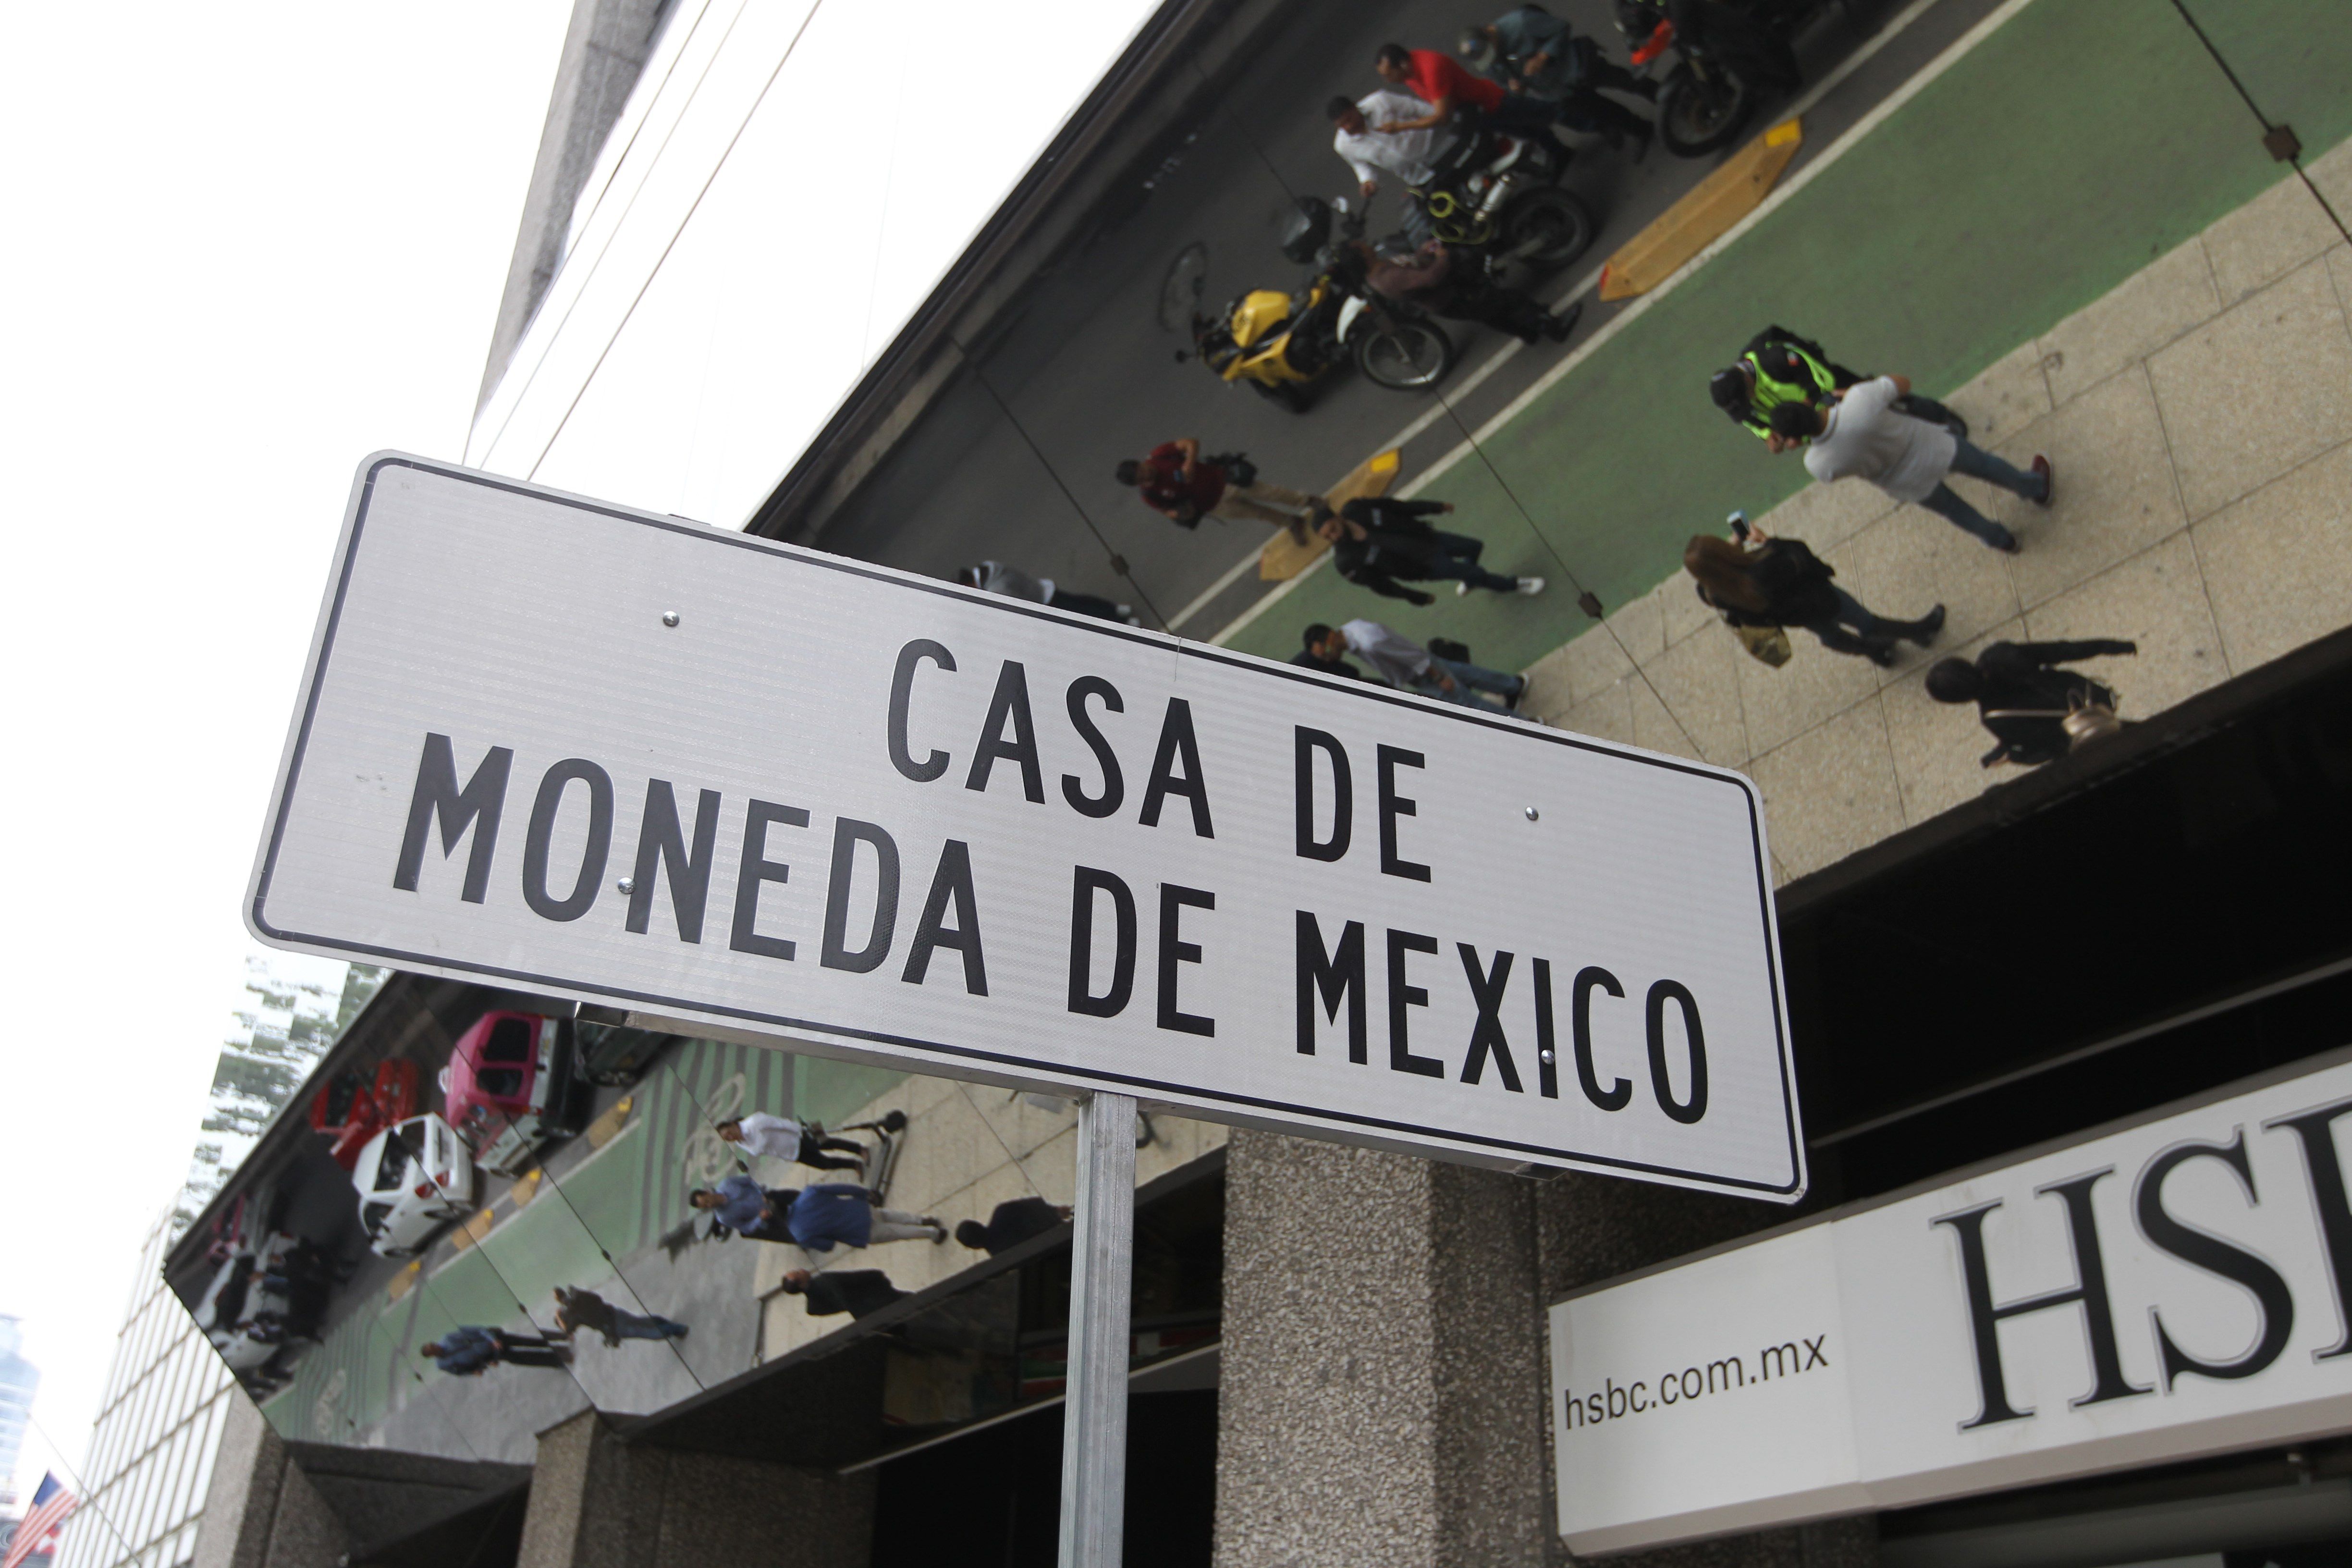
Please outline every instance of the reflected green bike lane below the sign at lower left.
[[[510, 1436], [499, 1432], [496, 1385], [435, 1375], [419, 1345], [461, 1324], [546, 1324], [550, 1293], [567, 1284], [600, 1288], [628, 1309], [661, 1309], [637, 1298], [633, 1281], [659, 1281], [659, 1246], [687, 1222], [687, 1192], [736, 1168], [710, 1133], [715, 1121], [797, 1107], [802, 1117], [837, 1124], [901, 1077], [741, 1044], [673, 1046], [628, 1091], [628, 1117], [602, 1147], [588, 1150], [583, 1138], [560, 1150], [520, 1208], [508, 1192], [496, 1194], [496, 1222], [477, 1244], [456, 1248], [445, 1237], [397, 1295], [397, 1284], [386, 1288], [381, 1279], [355, 1286], [263, 1413], [280, 1436], [358, 1443], [423, 1399], [440, 1406], [442, 1420], [426, 1425], [447, 1429], [449, 1453], [482, 1453]], [[750, 1324], [757, 1302], [746, 1295], [741, 1312]], [[701, 1342], [717, 1349], [720, 1340], [703, 1333]], [[724, 1368], [734, 1371], [741, 1366]]]

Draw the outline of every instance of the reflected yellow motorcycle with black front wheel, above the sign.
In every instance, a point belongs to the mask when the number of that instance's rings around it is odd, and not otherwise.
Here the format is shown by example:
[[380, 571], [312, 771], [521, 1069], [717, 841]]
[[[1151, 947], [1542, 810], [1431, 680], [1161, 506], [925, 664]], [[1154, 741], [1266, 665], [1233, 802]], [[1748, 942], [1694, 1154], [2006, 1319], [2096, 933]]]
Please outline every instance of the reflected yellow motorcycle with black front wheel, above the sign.
[[[1331, 212], [1308, 195], [1284, 219], [1282, 254], [1317, 268], [1303, 289], [1251, 289], [1218, 315], [1192, 317], [1202, 364], [1294, 414], [1308, 407], [1305, 388], [1345, 360], [1395, 393], [1437, 386], [1454, 369], [1454, 339], [1437, 322], [1364, 287], [1359, 252], [1331, 242]], [[1345, 202], [1338, 212], [1348, 237], [1364, 233]]]

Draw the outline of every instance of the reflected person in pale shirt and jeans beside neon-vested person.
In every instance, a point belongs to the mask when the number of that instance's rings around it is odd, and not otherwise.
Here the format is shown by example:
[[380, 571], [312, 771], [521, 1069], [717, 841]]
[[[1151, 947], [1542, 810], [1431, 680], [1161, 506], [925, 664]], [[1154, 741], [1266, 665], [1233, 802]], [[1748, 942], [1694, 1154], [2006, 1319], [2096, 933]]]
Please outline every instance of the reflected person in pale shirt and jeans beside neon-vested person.
[[2032, 473], [2011, 468], [1943, 425], [1898, 414], [1893, 402], [1907, 393], [1905, 376], [1879, 376], [1849, 386], [1828, 407], [1792, 397], [1773, 407], [1769, 444], [1773, 451], [1804, 447], [1804, 468], [1823, 484], [1870, 480], [1896, 501], [1924, 505], [1955, 529], [2016, 555], [2018, 536], [1962, 501], [1943, 480], [1962, 473], [2049, 505], [2051, 461], [2034, 456]]

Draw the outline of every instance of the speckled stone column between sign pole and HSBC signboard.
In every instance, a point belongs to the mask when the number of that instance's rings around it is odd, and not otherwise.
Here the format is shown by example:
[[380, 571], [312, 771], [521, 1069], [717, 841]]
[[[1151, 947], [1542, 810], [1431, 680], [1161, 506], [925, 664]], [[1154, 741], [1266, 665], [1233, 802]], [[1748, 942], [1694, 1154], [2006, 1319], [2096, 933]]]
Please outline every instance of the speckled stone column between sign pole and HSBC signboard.
[[1545, 1561], [1526, 1182], [1235, 1131], [1223, 1316], [1218, 1568]]

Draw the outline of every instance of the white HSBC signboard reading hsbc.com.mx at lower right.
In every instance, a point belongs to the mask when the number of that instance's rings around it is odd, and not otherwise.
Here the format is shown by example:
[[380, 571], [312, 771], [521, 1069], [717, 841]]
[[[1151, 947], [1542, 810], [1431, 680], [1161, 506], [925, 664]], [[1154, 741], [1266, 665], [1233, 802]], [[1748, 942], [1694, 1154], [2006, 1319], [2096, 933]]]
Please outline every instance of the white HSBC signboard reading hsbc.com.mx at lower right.
[[1552, 1307], [1573, 1552], [2352, 1427], [2352, 1065]]

